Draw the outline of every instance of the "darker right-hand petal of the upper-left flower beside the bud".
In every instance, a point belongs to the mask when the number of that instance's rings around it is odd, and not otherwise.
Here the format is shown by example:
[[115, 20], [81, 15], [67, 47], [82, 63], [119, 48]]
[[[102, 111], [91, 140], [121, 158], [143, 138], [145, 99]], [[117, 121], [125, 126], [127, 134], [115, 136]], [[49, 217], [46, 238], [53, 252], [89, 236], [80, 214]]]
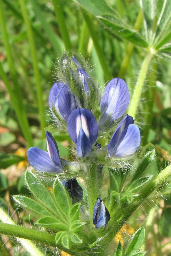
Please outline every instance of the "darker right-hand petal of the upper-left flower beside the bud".
[[58, 105], [60, 114], [63, 116], [63, 119], [67, 121], [71, 112], [77, 108], [74, 95], [69, 92], [69, 88], [64, 85], [56, 100], [57, 102], [55, 102], [55, 107]]

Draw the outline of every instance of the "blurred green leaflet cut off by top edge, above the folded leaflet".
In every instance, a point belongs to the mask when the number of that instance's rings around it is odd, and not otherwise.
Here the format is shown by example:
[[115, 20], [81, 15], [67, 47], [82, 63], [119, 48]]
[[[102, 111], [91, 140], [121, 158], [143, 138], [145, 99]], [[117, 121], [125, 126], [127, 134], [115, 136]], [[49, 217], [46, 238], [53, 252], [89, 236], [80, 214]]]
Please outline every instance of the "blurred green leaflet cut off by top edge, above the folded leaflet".
[[110, 7], [105, 0], [74, 0], [76, 3], [80, 4], [81, 7], [91, 12], [95, 16], [102, 16], [103, 14], [115, 14], [116, 11]]

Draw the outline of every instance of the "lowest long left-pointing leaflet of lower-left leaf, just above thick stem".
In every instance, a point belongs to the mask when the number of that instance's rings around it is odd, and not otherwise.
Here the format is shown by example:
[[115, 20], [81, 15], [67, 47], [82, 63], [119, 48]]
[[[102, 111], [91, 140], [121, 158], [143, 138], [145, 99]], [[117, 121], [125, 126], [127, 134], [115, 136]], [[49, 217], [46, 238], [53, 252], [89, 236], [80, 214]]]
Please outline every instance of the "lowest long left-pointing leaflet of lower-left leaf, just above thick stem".
[[60, 219], [57, 219], [51, 216], [42, 217], [41, 219], [36, 221], [36, 224], [43, 227], [48, 227], [50, 229], [59, 230], [59, 231], [68, 230], [69, 228], [68, 225], [61, 222]]

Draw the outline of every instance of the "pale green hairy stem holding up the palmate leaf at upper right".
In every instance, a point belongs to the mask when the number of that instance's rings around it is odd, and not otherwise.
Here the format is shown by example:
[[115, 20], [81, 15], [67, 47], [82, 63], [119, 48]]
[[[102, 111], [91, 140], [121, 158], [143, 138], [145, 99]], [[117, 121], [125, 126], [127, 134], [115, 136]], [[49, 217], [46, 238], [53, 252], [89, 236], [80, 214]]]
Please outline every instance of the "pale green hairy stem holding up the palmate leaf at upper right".
[[144, 84], [144, 80], [146, 78], [146, 74], [151, 62], [151, 58], [153, 57], [153, 55], [155, 54], [155, 51], [153, 48], [148, 49], [147, 51], [147, 55], [142, 63], [141, 69], [140, 69], [140, 73], [137, 79], [137, 83], [135, 85], [134, 88], [134, 92], [132, 95], [132, 99], [130, 102], [130, 106], [128, 108], [128, 114], [130, 116], [132, 116], [135, 119], [135, 115], [137, 112], [137, 108], [138, 108], [138, 103], [140, 100], [140, 96], [141, 96], [141, 92], [143, 89], [143, 84]]

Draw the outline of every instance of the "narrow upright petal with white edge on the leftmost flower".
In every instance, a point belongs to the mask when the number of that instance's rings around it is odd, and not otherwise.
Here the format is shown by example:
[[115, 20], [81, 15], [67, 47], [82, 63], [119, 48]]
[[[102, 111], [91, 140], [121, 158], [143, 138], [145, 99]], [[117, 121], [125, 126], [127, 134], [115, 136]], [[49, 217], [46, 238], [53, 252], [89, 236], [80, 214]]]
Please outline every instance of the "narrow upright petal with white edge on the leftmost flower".
[[52, 159], [52, 161], [62, 168], [62, 164], [59, 159], [59, 150], [57, 147], [57, 143], [55, 139], [53, 138], [52, 134], [50, 132], [46, 132], [46, 138], [47, 138], [47, 151], [49, 153], [49, 157]]

